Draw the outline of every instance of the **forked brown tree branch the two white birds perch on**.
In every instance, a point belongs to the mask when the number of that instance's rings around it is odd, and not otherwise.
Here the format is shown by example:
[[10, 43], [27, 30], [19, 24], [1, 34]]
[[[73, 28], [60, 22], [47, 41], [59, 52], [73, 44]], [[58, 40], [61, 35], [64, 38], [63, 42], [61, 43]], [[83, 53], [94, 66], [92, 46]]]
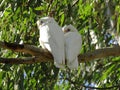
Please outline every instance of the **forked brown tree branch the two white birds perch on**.
[[[32, 64], [38, 62], [53, 62], [53, 56], [47, 50], [38, 48], [34, 45], [15, 44], [0, 41], [0, 47], [10, 49], [15, 52], [23, 52], [31, 54], [33, 57], [24, 58], [0, 58], [0, 63], [6, 64]], [[80, 54], [78, 56], [79, 63], [92, 61], [95, 59], [105, 58], [109, 56], [120, 56], [120, 47], [97, 49], [92, 52]]]

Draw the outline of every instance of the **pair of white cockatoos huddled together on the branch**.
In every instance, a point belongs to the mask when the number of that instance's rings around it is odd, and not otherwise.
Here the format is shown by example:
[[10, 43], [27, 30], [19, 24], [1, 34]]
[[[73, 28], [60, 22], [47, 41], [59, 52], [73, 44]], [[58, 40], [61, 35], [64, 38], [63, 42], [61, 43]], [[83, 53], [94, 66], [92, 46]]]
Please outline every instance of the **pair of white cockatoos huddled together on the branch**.
[[37, 21], [40, 31], [39, 42], [43, 49], [50, 51], [54, 65], [58, 68], [78, 69], [78, 55], [82, 46], [81, 35], [73, 25], [63, 28], [52, 17], [43, 17]]

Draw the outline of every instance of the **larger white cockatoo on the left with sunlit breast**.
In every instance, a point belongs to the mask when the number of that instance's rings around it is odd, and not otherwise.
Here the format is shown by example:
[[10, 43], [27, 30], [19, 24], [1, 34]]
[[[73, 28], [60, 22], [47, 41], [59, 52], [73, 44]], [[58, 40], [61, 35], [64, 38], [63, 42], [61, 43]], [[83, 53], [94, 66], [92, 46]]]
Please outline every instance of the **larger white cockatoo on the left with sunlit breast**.
[[64, 68], [65, 51], [64, 51], [64, 33], [62, 27], [52, 17], [43, 17], [37, 21], [40, 31], [39, 43], [43, 49], [52, 53], [54, 65], [58, 68]]

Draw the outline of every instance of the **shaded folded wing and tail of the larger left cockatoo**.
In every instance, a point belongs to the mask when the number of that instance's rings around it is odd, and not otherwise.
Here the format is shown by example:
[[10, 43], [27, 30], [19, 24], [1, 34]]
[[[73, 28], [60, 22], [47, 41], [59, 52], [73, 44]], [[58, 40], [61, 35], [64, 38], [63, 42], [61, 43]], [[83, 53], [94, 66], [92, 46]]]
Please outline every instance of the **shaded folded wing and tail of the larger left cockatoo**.
[[65, 65], [65, 51], [64, 51], [64, 33], [62, 28], [57, 24], [50, 24], [50, 28], [53, 29], [50, 32], [50, 45], [51, 52], [54, 56], [54, 64], [56, 67], [64, 68]]

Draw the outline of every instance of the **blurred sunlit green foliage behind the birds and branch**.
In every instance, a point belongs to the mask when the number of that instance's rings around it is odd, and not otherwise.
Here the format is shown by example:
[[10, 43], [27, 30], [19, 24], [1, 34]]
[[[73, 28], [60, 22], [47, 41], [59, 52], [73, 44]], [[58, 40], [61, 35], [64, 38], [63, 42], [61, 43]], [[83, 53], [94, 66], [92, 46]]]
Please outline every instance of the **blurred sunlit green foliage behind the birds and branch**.
[[[120, 42], [119, 0], [0, 0], [0, 40], [38, 46], [36, 21], [50, 14], [60, 26], [73, 24], [79, 30], [81, 53]], [[6, 58], [28, 56], [0, 51]], [[81, 90], [86, 84], [98, 88], [120, 85], [120, 57], [80, 63], [78, 70], [59, 70], [51, 62], [0, 64], [1, 90]]]

